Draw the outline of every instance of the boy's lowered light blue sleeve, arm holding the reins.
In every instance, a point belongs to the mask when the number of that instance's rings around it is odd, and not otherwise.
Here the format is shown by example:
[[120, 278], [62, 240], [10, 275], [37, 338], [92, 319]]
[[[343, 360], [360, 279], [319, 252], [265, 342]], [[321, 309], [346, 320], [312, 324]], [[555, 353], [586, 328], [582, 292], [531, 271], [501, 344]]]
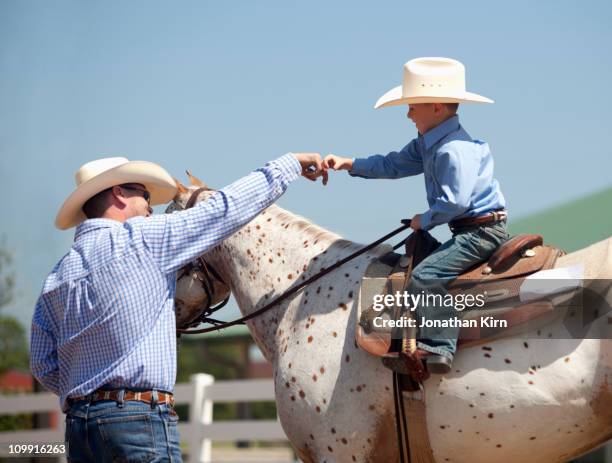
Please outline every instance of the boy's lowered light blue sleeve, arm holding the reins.
[[436, 153], [433, 174], [434, 181], [439, 184], [440, 194], [421, 216], [421, 227], [424, 230], [450, 222], [468, 210], [478, 180], [478, 169], [476, 157], [461, 155], [451, 147]]

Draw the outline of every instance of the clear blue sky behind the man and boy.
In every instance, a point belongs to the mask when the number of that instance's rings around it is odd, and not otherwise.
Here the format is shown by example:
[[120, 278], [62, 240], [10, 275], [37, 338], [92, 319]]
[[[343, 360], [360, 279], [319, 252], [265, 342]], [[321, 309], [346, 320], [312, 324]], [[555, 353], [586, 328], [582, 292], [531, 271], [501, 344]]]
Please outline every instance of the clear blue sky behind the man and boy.
[[[402, 65], [448, 56], [461, 122], [491, 145], [512, 217], [612, 184], [605, 1], [0, 2], [0, 235], [29, 323], [73, 232], [53, 227], [78, 167], [124, 155], [221, 187], [287, 151], [386, 153], [416, 135], [374, 110]], [[279, 204], [355, 241], [426, 208], [421, 177], [300, 181]], [[585, 224], [572, 223], [568, 227]], [[447, 236], [437, 231], [438, 237]]]

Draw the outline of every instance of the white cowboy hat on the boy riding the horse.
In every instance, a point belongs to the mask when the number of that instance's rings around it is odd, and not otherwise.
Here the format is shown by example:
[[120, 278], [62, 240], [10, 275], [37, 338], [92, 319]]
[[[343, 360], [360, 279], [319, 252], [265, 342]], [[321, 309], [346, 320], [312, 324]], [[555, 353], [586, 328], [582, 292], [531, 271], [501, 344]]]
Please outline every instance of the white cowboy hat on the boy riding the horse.
[[465, 66], [450, 58], [415, 58], [404, 64], [404, 82], [381, 96], [375, 109], [407, 103], [493, 103], [465, 90]]

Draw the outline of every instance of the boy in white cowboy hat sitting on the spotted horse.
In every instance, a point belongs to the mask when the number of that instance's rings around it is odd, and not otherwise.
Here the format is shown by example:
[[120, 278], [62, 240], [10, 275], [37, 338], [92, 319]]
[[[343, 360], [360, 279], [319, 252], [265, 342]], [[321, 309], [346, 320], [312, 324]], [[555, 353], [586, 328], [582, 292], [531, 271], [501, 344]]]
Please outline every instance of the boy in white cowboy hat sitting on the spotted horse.
[[[424, 174], [429, 210], [416, 214], [411, 227], [430, 230], [448, 223], [453, 237], [424, 259], [412, 273], [408, 292], [443, 291], [465, 270], [488, 259], [508, 239], [506, 202], [493, 178], [489, 146], [472, 139], [459, 124], [459, 103], [493, 103], [465, 91], [465, 68], [449, 58], [416, 58], [404, 65], [403, 85], [384, 94], [375, 108], [408, 104], [408, 118], [419, 132], [401, 151], [350, 159], [330, 154], [324, 168], [348, 170], [362, 178], [401, 178]], [[419, 326], [449, 320], [452, 307], [416, 308]], [[435, 323], [433, 323], [435, 325]], [[451, 368], [459, 328], [422, 327], [417, 346], [430, 373]]]

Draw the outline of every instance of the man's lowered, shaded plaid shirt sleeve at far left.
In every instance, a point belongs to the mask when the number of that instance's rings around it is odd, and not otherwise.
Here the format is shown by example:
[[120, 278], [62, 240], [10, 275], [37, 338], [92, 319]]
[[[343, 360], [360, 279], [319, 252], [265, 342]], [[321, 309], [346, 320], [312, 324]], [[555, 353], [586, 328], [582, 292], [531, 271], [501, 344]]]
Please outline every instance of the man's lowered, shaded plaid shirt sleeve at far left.
[[60, 395], [57, 341], [47, 316], [44, 296], [40, 296], [32, 318], [30, 370], [40, 383]]

